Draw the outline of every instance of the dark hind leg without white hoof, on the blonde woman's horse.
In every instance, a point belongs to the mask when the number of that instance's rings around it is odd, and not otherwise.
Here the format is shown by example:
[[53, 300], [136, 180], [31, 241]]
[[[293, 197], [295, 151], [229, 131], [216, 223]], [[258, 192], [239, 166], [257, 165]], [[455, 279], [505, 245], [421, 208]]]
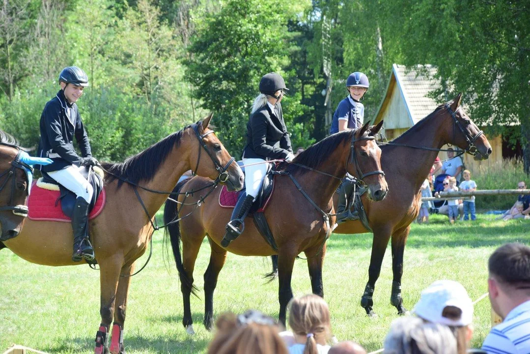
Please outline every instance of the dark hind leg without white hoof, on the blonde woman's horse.
[[210, 241], [211, 253], [210, 263], [204, 273], [204, 326], [210, 331], [214, 318], [214, 290], [217, 286], [219, 272], [223, 269], [223, 265], [225, 265], [226, 251], [210, 238], [208, 240]]

